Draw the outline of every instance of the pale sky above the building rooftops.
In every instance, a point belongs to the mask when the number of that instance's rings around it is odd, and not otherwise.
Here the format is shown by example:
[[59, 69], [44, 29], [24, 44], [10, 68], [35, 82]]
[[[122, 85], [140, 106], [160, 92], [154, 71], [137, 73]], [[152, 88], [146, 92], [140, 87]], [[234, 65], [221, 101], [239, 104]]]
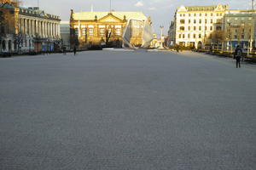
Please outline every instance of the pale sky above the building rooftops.
[[[109, 11], [110, 0], [22, 0], [22, 6], [39, 7], [48, 14], [61, 16], [61, 20], [69, 20], [70, 9], [75, 12]], [[164, 26], [167, 34], [170, 21], [176, 8], [181, 5], [217, 5], [229, 4], [231, 9], [251, 8], [251, 0], [112, 0], [112, 9], [115, 11], [141, 11], [150, 16], [153, 21], [154, 33], [160, 34], [160, 26]]]

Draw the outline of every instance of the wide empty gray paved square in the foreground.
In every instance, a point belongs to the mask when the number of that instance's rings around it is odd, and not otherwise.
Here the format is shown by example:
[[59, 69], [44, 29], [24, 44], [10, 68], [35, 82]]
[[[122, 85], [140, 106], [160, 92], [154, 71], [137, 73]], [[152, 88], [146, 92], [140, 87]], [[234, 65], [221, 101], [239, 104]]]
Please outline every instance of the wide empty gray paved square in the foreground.
[[184, 52], [0, 59], [1, 170], [255, 170], [256, 66]]

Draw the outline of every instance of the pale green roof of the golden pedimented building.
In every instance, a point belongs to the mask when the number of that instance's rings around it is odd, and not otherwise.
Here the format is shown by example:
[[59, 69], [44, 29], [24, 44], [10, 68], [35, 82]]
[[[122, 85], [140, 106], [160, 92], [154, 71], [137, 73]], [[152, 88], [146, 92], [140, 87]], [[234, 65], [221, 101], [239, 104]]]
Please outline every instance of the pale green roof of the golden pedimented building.
[[[126, 20], [134, 19], [134, 20], [147, 20], [147, 17], [142, 12], [111, 12], [114, 16], [118, 17], [120, 20], [124, 19], [126, 16]], [[73, 20], [95, 20], [95, 16], [100, 20], [104, 16], [108, 15], [109, 12], [79, 12], [73, 13]]]

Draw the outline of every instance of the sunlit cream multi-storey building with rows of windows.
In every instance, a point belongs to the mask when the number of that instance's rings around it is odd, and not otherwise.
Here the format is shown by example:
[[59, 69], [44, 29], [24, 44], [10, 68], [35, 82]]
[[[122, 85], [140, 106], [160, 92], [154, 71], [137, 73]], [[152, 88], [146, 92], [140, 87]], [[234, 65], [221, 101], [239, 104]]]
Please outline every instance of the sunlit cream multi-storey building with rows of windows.
[[173, 30], [169, 31], [169, 37], [175, 44], [203, 48], [214, 42], [216, 31], [224, 29], [224, 14], [229, 8], [227, 5], [216, 6], [181, 6], [175, 13]]

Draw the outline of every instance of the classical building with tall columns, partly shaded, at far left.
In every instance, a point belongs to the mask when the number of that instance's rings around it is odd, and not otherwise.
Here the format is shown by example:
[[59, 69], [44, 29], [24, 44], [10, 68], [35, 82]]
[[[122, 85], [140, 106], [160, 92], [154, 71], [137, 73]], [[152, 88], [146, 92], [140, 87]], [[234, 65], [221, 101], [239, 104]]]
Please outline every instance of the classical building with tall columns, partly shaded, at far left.
[[60, 18], [39, 8], [0, 4], [0, 52], [28, 53], [54, 51], [61, 43]]

